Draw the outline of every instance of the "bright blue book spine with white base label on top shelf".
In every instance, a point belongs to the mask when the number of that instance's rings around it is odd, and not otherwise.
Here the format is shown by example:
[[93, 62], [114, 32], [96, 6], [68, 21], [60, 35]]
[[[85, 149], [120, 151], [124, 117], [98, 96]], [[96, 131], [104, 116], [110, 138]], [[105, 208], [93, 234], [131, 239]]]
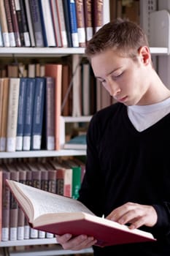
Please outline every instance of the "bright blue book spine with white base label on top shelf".
[[72, 34], [72, 44], [73, 44], [73, 47], [79, 47], [76, 4], [74, 0], [68, 0], [68, 3], [69, 3], [69, 18], [70, 18], [70, 28], [71, 28], [71, 34]]

